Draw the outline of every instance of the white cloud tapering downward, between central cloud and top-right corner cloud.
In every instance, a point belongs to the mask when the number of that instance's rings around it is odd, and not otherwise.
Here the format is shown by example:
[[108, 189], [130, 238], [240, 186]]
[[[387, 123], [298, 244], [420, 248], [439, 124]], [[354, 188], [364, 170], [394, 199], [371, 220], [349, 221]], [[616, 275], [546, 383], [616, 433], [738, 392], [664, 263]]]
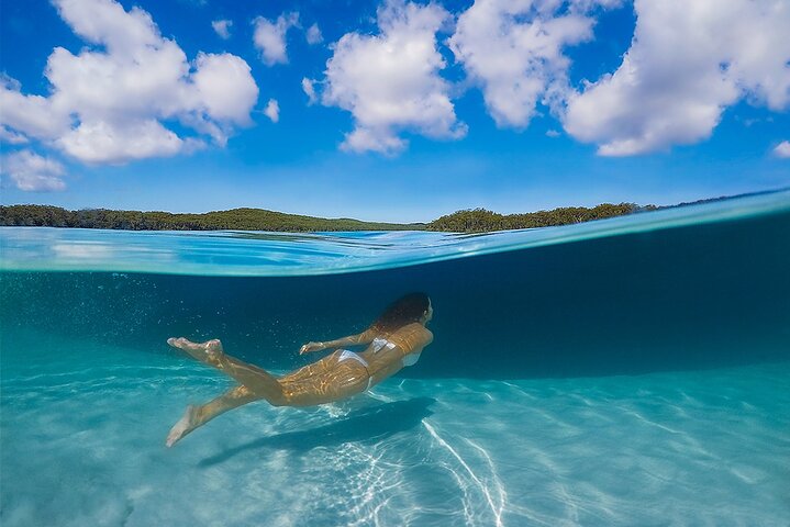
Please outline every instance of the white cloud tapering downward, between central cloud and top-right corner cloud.
[[525, 127], [538, 101], [561, 98], [570, 66], [563, 51], [592, 37], [593, 19], [582, 8], [594, 3], [476, 0], [458, 16], [449, 47], [481, 87], [497, 125]]

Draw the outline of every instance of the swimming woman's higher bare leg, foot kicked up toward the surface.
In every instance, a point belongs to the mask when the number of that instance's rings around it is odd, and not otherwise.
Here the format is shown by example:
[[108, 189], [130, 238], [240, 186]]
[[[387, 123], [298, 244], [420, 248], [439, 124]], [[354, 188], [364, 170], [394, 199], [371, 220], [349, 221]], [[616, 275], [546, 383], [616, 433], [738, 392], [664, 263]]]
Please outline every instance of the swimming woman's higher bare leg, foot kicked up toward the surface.
[[205, 343], [192, 343], [186, 338], [168, 338], [167, 344], [174, 348], [182, 349], [192, 358], [213, 366], [218, 370], [232, 377], [240, 384], [249, 389], [258, 399], [266, 399], [271, 404], [279, 406], [285, 403], [282, 386], [277, 378], [257, 366], [248, 365], [242, 360], [225, 355], [220, 340], [208, 340]]

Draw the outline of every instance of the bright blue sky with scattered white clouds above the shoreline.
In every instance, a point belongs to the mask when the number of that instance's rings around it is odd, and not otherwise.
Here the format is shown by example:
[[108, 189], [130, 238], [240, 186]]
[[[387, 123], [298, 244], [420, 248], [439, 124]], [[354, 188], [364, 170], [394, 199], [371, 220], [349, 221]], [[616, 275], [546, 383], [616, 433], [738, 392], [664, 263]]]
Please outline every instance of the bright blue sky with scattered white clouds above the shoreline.
[[783, 0], [1, 9], [3, 204], [411, 222], [790, 186]]

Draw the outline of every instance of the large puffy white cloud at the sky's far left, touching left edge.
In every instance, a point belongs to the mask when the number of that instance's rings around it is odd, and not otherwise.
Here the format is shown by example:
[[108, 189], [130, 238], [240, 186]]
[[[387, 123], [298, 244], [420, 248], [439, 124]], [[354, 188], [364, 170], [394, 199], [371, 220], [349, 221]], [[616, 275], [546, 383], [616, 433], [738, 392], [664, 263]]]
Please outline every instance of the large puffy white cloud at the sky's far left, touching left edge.
[[[151, 15], [112, 0], [55, 0], [58, 13], [90, 46], [56, 47], [45, 76], [47, 97], [0, 82], [0, 125], [85, 162], [125, 162], [190, 152], [211, 137], [224, 145], [252, 123], [258, 87], [249, 66], [230, 54], [188, 61]], [[180, 137], [174, 122], [197, 135]], [[188, 133], [188, 132], [187, 132]]]

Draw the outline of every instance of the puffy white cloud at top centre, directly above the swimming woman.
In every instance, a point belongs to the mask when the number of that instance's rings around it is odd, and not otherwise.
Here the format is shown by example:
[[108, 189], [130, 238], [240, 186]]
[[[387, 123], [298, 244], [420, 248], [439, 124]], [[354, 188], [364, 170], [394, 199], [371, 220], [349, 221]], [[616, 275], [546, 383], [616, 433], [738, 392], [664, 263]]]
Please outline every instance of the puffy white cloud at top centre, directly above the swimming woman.
[[446, 64], [436, 33], [449, 13], [434, 3], [392, 0], [377, 14], [378, 34], [343, 35], [326, 63], [322, 103], [354, 116], [355, 128], [341, 147], [392, 155], [407, 145], [402, 132], [464, 136], [466, 125], [456, 119], [449, 85], [439, 76]]

